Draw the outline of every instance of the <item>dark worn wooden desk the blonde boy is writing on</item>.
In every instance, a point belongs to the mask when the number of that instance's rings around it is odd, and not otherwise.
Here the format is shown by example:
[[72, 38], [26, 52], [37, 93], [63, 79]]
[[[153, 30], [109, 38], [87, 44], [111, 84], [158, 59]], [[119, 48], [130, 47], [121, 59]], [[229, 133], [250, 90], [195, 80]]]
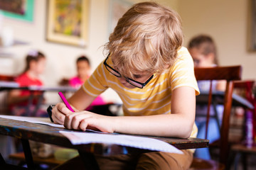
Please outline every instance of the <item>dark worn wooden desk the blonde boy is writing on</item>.
[[[140, 154], [144, 152], [152, 152], [145, 149], [137, 149], [133, 147], [124, 147], [120, 145], [107, 145], [107, 144], [95, 144], [88, 145], [72, 145], [68, 138], [60, 134], [59, 130], [63, 128], [55, 128], [49, 125], [41, 125], [28, 123], [18, 120], [10, 120], [6, 118], [0, 118], [0, 134], [9, 135], [12, 137], [18, 137], [21, 139], [23, 150], [26, 156], [26, 162], [29, 169], [33, 169], [33, 157], [29, 147], [28, 140], [34, 140], [38, 142], [48, 143], [52, 145], [58, 145], [60, 147], [69, 147], [78, 149], [80, 157], [84, 158], [88, 169], [98, 169], [97, 162], [94, 154], [102, 154], [110, 156], [114, 154]], [[65, 130], [64, 131], [74, 131]], [[178, 139], [171, 137], [152, 137], [164, 142], [168, 142], [170, 145], [174, 145], [178, 149], [195, 149], [201, 147], [208, 147], [208, 140], [198, 138]], [[86, 158], [86, 159], [85, 159]], [[6, 164], [4, 159], [0, 158], [0, 166], [9, 167], [11, 165]]]

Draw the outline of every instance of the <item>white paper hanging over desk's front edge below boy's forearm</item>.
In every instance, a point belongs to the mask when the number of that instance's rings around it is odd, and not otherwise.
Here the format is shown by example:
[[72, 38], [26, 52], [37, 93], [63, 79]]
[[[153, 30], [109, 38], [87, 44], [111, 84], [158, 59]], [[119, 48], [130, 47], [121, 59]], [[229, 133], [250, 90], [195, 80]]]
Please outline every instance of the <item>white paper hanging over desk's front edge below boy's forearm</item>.
[[171, 152], [183, 154], [176, 147], [149, 137], [136, 137], [132, 135], [120, 134], [99, 134], [90, 132], [66, 132], [60, 131], [61, 134], [68, 137], [73, 145], [89, 144], [89, 143], [104, 143], [112, 145], [122, 145], [126, 147], [136, 147], [139, 149], [149, 149], [161, 152]]

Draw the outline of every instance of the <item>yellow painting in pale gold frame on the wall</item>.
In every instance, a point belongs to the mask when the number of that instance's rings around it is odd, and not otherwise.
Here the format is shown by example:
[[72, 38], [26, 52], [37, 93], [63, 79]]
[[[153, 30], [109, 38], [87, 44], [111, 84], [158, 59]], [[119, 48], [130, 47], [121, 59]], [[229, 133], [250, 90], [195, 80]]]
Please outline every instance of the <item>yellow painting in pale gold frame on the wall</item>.
[[48, 0], [46, 40], [85, 47], [88, 21], [89, 0]]

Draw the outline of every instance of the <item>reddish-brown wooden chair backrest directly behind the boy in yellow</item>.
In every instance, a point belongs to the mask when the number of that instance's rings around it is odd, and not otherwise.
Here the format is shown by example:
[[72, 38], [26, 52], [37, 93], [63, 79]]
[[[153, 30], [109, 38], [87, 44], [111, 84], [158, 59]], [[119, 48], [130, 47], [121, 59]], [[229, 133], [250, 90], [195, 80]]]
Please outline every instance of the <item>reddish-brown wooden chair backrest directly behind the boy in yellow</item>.
[[[212, 101], [212, 81], [213, 80], [225, 80], [225, 96], [223, 102], [223, 119], [220, 128], [220, 162], [225, 164], [228, 160], [228, 132], [230, 125], [230, 111], [232, 106], [232, 94], [233, 94], [233, 81], [241, 79], [242, 67], [230, 66], [230, 67], [202, 67], [195, 68], [196, 79], [210, 80], [210, 91], [208, 96], [208, 110], [206, 118], [206, 132], [208, 131], [208, 121], [210, 118], [210, 105]], [[207, 134], [206, 134], [207, 136]]]

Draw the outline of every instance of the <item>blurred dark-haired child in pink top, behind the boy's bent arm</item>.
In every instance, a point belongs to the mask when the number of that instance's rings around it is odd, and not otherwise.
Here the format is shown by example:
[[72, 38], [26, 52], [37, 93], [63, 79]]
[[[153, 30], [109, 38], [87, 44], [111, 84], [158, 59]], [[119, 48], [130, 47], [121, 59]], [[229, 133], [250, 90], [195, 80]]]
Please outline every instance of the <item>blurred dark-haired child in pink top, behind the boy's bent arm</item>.
[[[69, 85], [75, 88], [80, 88], [82, 84], [90, 77], [90, 60], [84, 55], [78, 57], [76, 61], [78, 75], [73, 77], [69, 81]], [[93, 106], [104, 105], [105, 101], [101, 96], [97, 96], [94, 101], [86, 108], [87, 111], [90, 111]]]

